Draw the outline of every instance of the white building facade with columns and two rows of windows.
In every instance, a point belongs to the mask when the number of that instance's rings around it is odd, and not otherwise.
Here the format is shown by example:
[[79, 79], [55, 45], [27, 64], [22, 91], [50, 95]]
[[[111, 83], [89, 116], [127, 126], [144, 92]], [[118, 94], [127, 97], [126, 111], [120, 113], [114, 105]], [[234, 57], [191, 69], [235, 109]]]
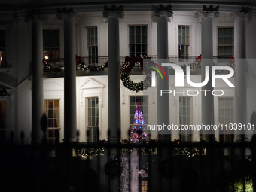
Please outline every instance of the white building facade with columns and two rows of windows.
[[[13, 12], [9, 10], [1, 26], [0, 70], [3, 78], [0, 83], [3, 91], [8, 93], [0, 98], [2, 138], [16, 143], [40, 142], [45, 132], [49, 142], [59, 143], [65, 139], [93, 142], [108, 140], [108, 130], [113, 130], [113, 133], [120, 130], [120, 138], [118, 133], [111, 136], [113, 141], [129, 139], [136, 101], [142, 102], [142, 112], [148, 125], [159, 124], [156, 114], [166, 114], [166, 111], [169, 111], [169, 124], [177, 126], [202, 124], [206, 119], [203, 115], [208, 113], [212, 115], [208, 123], [215, 125], [240, 121], [251, 123], [251, 115], [256, 108], [256, 19], [253, 3], [248, 2], [248, 12], [240, 12], [247, 5], [239, 5], [238, 2], [233, 5], [227, 2], [219, 5], [219, 9], [214, 9], [217, 7], [214, 2], [206, 4], [208, 13], [218, 13], [218, 17], [196, 17], [207, 11], [202, 12], [205, 3], [193, 4], [193, 1], [186, 5], [171, 4], [171, 9], [169, 4], [161, 7], [156, 3], [155, 10], [143, 3], [133, 5], [127, 2], [123, 7], [116, 5], [114, 8], [106, 5], [108, 9], [104, 10], [103, 2], [100, 6], [93, 3], [79, 6], [80, 2], [53, 6], [44, 1], [29, 7], [28, 12], [20, 8], [17, 17], [12, 17], [10, 13]], [[212, 10], [210, 5], [213, 5]], [[161, 24], [160, 17], [155, 15], [159, 9], [166, 18], [165, 24]], [[103, 14], [106, 12], [107, 17]], [[207, 26], [209, 23], [210, 27]], [[166, 44], [159, 43], [157, 25], [167, 26], [167, 34], [162, 35]], [[237, 41], [238, 38], [241, 41]], [[166, 58], [160, 58], [160, 53], [157, 53], [161, 46], [166, 50]], [[75, 55], [81, 56], [86, 66], [104, 66], [108, 62], [108, 67], [99, 71], [81, 70], [81, 66], [76, 65], [76, 60], [80, 60]], [[229, 79], [235, 87], [229, 87], [218, 79], [215, 90], [223, 90], [224, 94], [209, 96], [209, 100], [203, 101], [202, 87], [191, 87], [187, 81], [184, 81], [184, 87], [176, 87], [175, 75], [169, 69], [167, 90], [172, 90], [172, 93], [168, 94], [169, 105], [164, 108], [165, 112], [160, 112], [157, 103], [161, 99], [157, 87], [135, 92], [124, 87], [118, 78], [118, 66], [127, 57], [141, 56], [148, 56], [154, 62], [167, 59], [167, 62], [180, 66], [201, 62], [201, 57], [213, 59], [218, 65], [225, 57], [223, 65], [227, 65], [233, 62], [234, 56], [238, 67]], [[239, 59], [247, 59], [247, 63], [239, 63]], [[58, 68], [60, 72], [44, 72], [47, 63], [49, 70]], [[242, 71], [239, 68], [241, 65]], [[64, 71], [61, 66], [65, 66]], [[201, 82], [200, 69], [191, 70], [191, 74], [191, 81]], [[142, 70], [135, 66], [130, 78], [139, 82], [145, 77]], [[242, 83], [236, 83], [238, 81]], [[187, 90], [192, 91], [187, 94]], [[200, 94], [192, 96], [197, 93], [195, 90]], [[174, 95], [174, 91], [178, 94]], [[241, 108], [239, 104], [245, 107]], [[46, 131], [40, 128], [43, 114], [47, 116]], [[241, 119], [236, 122], [238, 117]], [[214, 137], [216, 141], [222, 141], [218, 130], [215, 130]], [[246, 137], [250, 139], [251, 136]], [[150, 139], [159, 139], [157, 130], [151, 130]], [[200, 132], [196, 130], [192, 135], [181, 135], [174, 130], [169, 139], [207, 140], [200, 137]], [[232, 135], [229, 141], [233, 139], [239, 140], [240, 137]]]

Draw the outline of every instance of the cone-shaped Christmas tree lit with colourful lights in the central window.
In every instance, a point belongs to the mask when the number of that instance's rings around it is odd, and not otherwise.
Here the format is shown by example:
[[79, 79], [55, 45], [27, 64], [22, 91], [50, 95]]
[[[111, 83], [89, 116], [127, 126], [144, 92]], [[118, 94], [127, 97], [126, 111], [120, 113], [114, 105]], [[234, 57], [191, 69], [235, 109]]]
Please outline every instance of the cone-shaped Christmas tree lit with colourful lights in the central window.
[[141, 102], [136, 103], [136, 110], [133, 117], [133, 127], [130, 133], [130, 141], [134, 143], [140, 143], [142, 141], [148, 141], [148, 134], [146, 133], [145, 122], [142, 114]]

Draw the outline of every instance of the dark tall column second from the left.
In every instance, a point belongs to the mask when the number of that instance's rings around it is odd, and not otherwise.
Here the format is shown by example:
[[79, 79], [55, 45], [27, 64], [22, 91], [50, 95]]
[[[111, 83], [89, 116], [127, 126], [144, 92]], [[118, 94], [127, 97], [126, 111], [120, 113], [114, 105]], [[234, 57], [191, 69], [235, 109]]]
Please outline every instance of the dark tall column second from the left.
[[77, 132], [75, 21], [64, 19], [64, 142], [74, 142]]

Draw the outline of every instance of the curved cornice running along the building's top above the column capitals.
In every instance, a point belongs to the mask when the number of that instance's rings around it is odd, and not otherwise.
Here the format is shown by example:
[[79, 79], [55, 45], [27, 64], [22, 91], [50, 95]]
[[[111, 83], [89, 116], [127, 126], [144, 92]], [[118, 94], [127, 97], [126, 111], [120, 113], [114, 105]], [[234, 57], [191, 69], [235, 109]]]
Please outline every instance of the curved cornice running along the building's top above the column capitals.
[[[116, 2], [116, 4], [114, 4]], [[15, 17], [27, 17], [28, 11], [32, 14], [57, 14], [57, 8], [73, 8], [74, 13], [104, 11], [104, 6], [123, 5], [123, 11], [153, 11], [152, 7], [172, 5], [172, 11], [202, 11], [203, 5], [219, 5], [219, 12], [239, 12], [242, 6], [250, 6], [251, 14], [256, 14], [255, 1], [225, 0], [225, 1], [203, 1], [203, 0], [179, 0], [179, 1], [157, 1], [157, 0], [1, 0], [0, 16], [6, 20]], [[2, 18], [3, 18], [2, 17]], [[11, 18], [13, 17], [13, 18]]]

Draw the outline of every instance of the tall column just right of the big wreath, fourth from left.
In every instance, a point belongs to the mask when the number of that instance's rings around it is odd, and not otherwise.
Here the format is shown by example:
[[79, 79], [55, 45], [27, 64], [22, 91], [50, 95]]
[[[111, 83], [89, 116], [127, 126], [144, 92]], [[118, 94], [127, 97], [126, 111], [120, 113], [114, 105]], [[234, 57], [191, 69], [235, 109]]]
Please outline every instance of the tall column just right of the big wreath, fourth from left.
[[[171, 12], [172, 14], [172, 12]], [[157, 12], [157, 64], [168, 63], [168, 16], [166, 11]], [[169, 125], [169, 94], [160, 96], [160, 90], [169, 90], [169, 67], [163, 67], [167, 78], [163, 79], [157, 74], [157, 124]], [[171, 132], [162, 130], [160, 139], [170, 139]]]

